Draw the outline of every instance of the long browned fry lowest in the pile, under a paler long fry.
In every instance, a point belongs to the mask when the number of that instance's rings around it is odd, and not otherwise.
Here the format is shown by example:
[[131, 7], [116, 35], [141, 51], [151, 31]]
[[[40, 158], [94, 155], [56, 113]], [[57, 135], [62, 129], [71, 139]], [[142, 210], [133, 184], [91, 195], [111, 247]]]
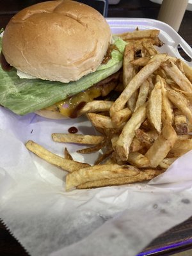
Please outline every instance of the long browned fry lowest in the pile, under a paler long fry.
[[140, 170], [140, 173], [138, 175], [135, 175], [132, 177], [93, 180], [90, 182], [85, 182], [84, 184], [77, 186], [77, 188], [78, 189], [99, 188], [104, 186], [118, 186], [123, 184], [131, 184], [134, 182], [143, 182], [145, 180], [151, 180], [163, 172], [164, 170], [150, 170], [150, 169]]

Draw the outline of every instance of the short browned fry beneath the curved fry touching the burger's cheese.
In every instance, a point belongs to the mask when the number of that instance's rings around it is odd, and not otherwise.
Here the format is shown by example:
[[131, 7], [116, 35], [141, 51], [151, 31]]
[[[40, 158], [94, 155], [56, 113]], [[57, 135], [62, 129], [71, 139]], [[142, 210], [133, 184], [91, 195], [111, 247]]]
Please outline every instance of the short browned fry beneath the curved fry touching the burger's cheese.
[[99, 115], [96, 113], [88, 113], [86, 115], [90, 122], [92, 122], [96, 127], [116, 129], [124, 126], [124, 124], [121, 124], [120, 126], [114, 124], [109, 116]]

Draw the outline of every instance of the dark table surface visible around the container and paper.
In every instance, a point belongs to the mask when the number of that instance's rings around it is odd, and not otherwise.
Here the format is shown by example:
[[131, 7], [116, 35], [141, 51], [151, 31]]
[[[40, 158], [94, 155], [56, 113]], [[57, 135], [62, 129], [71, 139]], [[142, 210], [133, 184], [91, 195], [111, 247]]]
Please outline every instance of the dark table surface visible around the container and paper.
[[[19, 10], [36, 0], [0, 0], [0, 28], [5, 28], [11, 17]], [[160, 5], [148, 0], [121, 0], [120, 3], [109, 5], [108, 17], [138, 17], [157, 19]], [[179, 29], [179, 35], [192, 45], [192, 12], [186, 11]], [[171, 255], [175, 252], [192, 248], [192, 217], [180, 225], [168, 230], [150, 243], [140, 255]], [[26, 256], [24, 248], [10, 234], [0, 221], [0, 255]]]

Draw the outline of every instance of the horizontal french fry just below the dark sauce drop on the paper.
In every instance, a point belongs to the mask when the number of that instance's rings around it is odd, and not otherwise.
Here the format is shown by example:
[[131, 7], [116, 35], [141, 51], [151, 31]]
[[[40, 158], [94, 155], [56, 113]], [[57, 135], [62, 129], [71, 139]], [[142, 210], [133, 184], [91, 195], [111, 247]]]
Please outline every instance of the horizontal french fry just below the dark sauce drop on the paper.
[[52, 140], [61, 143], [77, 143], [96, 145], [104, 140], [104, 136], [99, 135], [82, 135], [82, 134], [65, 134], [65, 133], [53, 133]]

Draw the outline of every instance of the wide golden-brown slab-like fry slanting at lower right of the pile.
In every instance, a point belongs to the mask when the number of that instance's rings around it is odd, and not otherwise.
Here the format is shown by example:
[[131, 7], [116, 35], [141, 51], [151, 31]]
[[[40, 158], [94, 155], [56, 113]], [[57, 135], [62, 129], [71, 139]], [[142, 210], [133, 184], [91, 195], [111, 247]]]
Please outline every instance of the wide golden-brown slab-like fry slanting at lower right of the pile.
[[150, 161], [151, 167], [157, 167], [164, 157], [170, 152], [171, 148], [177, 141], [177, 134], [172, 125], [164, 125], [161, 134], [145, 154]]

